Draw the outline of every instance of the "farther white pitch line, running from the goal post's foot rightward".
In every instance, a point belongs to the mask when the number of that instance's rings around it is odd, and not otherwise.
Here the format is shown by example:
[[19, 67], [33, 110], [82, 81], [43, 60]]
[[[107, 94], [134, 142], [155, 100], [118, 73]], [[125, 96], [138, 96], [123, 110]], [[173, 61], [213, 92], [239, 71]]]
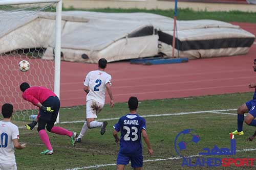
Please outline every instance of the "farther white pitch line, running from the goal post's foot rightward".
[[[216, 114], [228, 114], [228, 115], [237, 115], [234, 113], [222, 113], [225, 111], [234, 111], [237, 109], [223, 109], [223, 110], [205, 110], [205, 111], [195, 111], [195, 112], [180, 112], [180, 113], [166, 113], [166, 114], [151, 114], [151, 115], [141, 115], [141, 117], [158, 117], [158, 116], [177, 116], [177, 115], [185, 115], [185, 114], [198, 114], [198, 113], [216, 113]], [[105, 121], [105, 120], [118, 120], [120, 117], [114, 117], [114, 118], [102, 118], [97, 119], [98, 121]], [[71, 122], [60, 122], [59, 124], [73, 124], [73, 123], [82, 123], [84, 120], [77, 120], [77, 121], [71, 121]], [[20, 129], [26, 128], [26, 127], [18, 127]]]

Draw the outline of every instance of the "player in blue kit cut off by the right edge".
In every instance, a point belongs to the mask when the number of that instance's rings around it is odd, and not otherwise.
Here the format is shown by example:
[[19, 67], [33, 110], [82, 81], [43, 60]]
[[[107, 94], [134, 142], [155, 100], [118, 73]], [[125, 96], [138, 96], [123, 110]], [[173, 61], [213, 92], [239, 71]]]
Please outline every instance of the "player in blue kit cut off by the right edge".
[[[256, 71], [256, 59], [253, 61], [252, 68]], [[250, 83], [249, 88], [255, 88], [252, 100], [247, 101], [242, 106], [238, 108], [238, 129], [236, 131], [231, 132], [233, 135], [243, 135], [243, 122], [245, 122], [249, 126], [256, 127], [256, 83]], [[244, 118], [244, 113], [248, 113]]]

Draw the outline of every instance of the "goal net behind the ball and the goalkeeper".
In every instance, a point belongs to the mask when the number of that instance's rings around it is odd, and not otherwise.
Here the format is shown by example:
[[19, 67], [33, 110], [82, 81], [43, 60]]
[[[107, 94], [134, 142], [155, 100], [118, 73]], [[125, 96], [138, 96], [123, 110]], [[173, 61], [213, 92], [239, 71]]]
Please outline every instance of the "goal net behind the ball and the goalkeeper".
[[[38, 108], [22, 98], [19, 85], [27, 82], [31, 86], [45, 86], [53, 91], [56, 85], [55, 62], [44, 60], [42, 56], [48, 44], [55, 42], [57, 3], [38, 1], [36, 4], [1, 5], [1, 2], [8, 1], [0, 1], [1, 107], [4, 103], [11, 103], [14, 119], [29, 120], [30, 115], [38, 113]], [[54, 17], [45, 17], [45, 14]], [[22, 60], [30, 63], [26, 72], [19, 70], [18, 63]]]

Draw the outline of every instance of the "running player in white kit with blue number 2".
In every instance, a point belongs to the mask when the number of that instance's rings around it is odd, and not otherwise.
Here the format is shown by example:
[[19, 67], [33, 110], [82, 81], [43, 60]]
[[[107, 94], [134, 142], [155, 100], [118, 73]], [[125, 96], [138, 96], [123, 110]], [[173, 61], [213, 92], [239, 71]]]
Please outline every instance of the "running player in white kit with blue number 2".
[[91, 128], [101, 127], [100, 134], [105, 133], [105, 127], [108, 122], [97, 122], [97, 114], [102, 110], [105, 103], [105, 90], [110, 96], [110, 107], [114, 107], [114, 99], [111, 90], [111, 76], [105, 72], [107, 61], [104, 58], [99, 59], [98, 70], [90, 71], [83, 82], [83, 90], [87, 93], [86, 103], [86, 122], [84, 123], [81, 132], [76, 139], [76, 142], [81, 142], [86, 131]]

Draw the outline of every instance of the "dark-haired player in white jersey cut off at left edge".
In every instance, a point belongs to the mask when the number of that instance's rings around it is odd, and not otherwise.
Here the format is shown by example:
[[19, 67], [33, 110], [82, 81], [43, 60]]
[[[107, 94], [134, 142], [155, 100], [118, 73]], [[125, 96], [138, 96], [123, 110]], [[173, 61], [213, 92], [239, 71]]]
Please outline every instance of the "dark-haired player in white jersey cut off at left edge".
[[0, 169], [10, 170], [17, 169], [14, 155], [14, 148], [24, 149], [26, 144], [18, 142], [18, 127], [10, 122], [13, 112], [11, 104], [2, 106], [2, 114], [4, 119], [0, 121]]

